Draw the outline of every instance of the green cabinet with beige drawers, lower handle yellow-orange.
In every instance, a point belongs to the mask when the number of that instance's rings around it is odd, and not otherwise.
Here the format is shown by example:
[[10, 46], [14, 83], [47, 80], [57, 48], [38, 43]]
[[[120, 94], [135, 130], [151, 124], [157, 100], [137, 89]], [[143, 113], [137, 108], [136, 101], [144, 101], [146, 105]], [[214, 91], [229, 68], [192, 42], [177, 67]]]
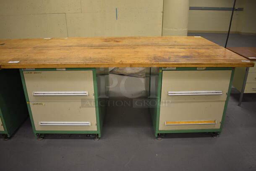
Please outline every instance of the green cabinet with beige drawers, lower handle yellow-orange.
[[221, 132], [234, 69], [152, 71], [150, 97], [157, 101], [151, 109], [156, 137], [178, 132], [213, 132], [217, 136]]

